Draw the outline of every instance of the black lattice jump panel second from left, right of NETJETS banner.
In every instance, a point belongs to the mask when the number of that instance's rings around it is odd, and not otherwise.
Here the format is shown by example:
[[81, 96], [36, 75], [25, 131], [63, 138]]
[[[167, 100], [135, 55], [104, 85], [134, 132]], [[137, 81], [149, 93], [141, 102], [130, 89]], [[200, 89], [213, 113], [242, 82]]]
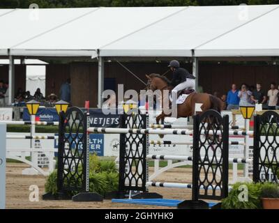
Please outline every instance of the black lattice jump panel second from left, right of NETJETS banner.
[[[146, 128], [145, 114], [123, 114], [120, 120], [121, 128]], [[146, 148], [147, 134], [120, 134], [119, 153], [119, 191], [137, 190], [146, 192]]]

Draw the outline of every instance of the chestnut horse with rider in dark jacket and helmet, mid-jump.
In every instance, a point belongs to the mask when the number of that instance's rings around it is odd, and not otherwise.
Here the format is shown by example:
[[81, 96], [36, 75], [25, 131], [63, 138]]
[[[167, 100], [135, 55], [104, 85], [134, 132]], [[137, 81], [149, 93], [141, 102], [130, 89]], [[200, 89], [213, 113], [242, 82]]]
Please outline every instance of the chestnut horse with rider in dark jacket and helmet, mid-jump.
[[[190, 94], [182, 104], [177, 105], [176, 118], [193, 116], [195, 114], [196, 103], [202, 104], [202, 112], [196, 112], [196, 114], [202, 114], [209, 109], [221, 112], [223, 106], [222, 100], [209, 93], [196, 93], [194, 90], [195, 76], [190, 74], [186, 69], [180, 68], [179, 61], [170, 61], [169, 68], [173, 73], [172, 81], [169, 82], [166, 77], [157, 74], [146, 75], [149, 79], [147, 89], [151, 91], [160, 90], [161, 95], [164, 95], [164, 90], [169, 90], [172, 94], [176, 94], [177, 97], [181, 92]], [[164, 98], [162, 98], [163, 100]], [[156, 117], [156, 122], [159, 123], [160, 120], [164, 121], [165, 117], [168, 116], [172, 116], [172, 114], [167, 114], [163, 109], [162, 113]]]

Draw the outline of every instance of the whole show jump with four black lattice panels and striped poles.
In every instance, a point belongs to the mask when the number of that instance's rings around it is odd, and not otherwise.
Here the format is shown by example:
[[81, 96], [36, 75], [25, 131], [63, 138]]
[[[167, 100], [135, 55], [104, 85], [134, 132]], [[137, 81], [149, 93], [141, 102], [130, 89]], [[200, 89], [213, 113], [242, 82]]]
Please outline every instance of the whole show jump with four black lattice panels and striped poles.
[[[276, 174], [279, 171], [279, 159], [276, 159], [276, 150], [279, 146], [279, 115], [276, 112], [269, 111], [262, 116], [255, 116], [254, 132], [229, 130], [228, 116], [222, 117], [213, 110], [194, 116], [193, 130], [152, 130], [147, 128], [149, 116], [146, 114], [123, 114], [120, 128], [114, 129], [89, 128], [88, 119], [89, 114], [76, 107], [68, 109], [66, 114], [60, 114], [58, 199], [65, 199], [68, 192], [77, 191], [80, 194], [75, 195], [73, 201], [103, 200], [99, 194], [89, 193], [91, 132], [120, 134], [119, 191], [107, 197], [114, 195], [121, 198], [130, 191], [139, 191], [141, 193], [133, 198], [158, 198], [160, 194], [149, 193], [149, 187], [191, 188], [192, 199], [179, 203], [179, 208], [208, 208], [208, 203], [202, 199], [220, 200], [227, 197], [229, 162], [252, 162], [255, 182], [270, 180], [278, 183]], [[149, 134], [193, 135], [193, 156], [179, 158], [149, 155]], [[229, 160], [229, 134], [249, 134], [254, 137], [252, 160]], [[193, 162], [192, 184], [149, 181], [148, 160], [174, 158], [190, 159]], [[44, 199], [48, 198], [49, 194], [45, 194]]]

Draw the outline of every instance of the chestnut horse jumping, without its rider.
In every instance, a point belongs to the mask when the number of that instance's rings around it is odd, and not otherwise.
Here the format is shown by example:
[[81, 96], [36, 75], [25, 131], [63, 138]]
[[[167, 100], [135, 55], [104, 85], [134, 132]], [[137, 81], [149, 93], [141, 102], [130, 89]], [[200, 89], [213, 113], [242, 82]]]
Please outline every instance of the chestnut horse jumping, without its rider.
[[[166, 77], [158, 74], [146, 75], [146, 77], [149, 79], [149, 82], [146, 85], [146, 89], [149, 89], [151, 91], [160, 90], [162, 97], [164, 90], [172, 90], [172, 87], [169, 85], [169, 79], [167, 79]], [[162, 102], [163, 100], [164, 98], [162, 98]], [[189, 116], [193, 116], [195, 114], [196, 103], [202, 104], [202, 112], [196, 112], [197, 114], [202, 114], [209, 109], [214, 109], [217, 112], [221, 112], [223, 107], [222, 100], [214, 95], [210, 95], [208, 93], [191, 93], [190, 95], [188, 95], [188, 98], [186, 98], [183, 104], [177, 105], [176, 118], [186, 118]], [[157, 124], [160, 122], [160, 120], [164, 121], [165, 117], [167, 116], [172, 116], [172, 114], [165, 114], [163, 110], [162, 114], [156, 117]]]

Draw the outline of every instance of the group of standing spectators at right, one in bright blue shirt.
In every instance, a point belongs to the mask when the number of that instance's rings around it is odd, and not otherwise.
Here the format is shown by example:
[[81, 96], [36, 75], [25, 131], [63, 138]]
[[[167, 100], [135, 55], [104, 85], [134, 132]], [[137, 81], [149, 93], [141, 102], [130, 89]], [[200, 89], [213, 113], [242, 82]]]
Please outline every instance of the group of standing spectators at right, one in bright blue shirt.
[[[267, 92], [262, 89], [262, 84], [259, 82], [256, 87], [241, 84], [240, 89], [236, 84], [232, 84], [232, 89], [220, 99], [224, 102], [223, 109], [227, 110], [239, 109], [239, 106], [255, 106], [255, 104], [262, 104], [263, 109], [275, 110], [279, 109], [278, 89], [275, 83], [271, 83]], [[218, 93], [214, 95], [219, 96]]]

